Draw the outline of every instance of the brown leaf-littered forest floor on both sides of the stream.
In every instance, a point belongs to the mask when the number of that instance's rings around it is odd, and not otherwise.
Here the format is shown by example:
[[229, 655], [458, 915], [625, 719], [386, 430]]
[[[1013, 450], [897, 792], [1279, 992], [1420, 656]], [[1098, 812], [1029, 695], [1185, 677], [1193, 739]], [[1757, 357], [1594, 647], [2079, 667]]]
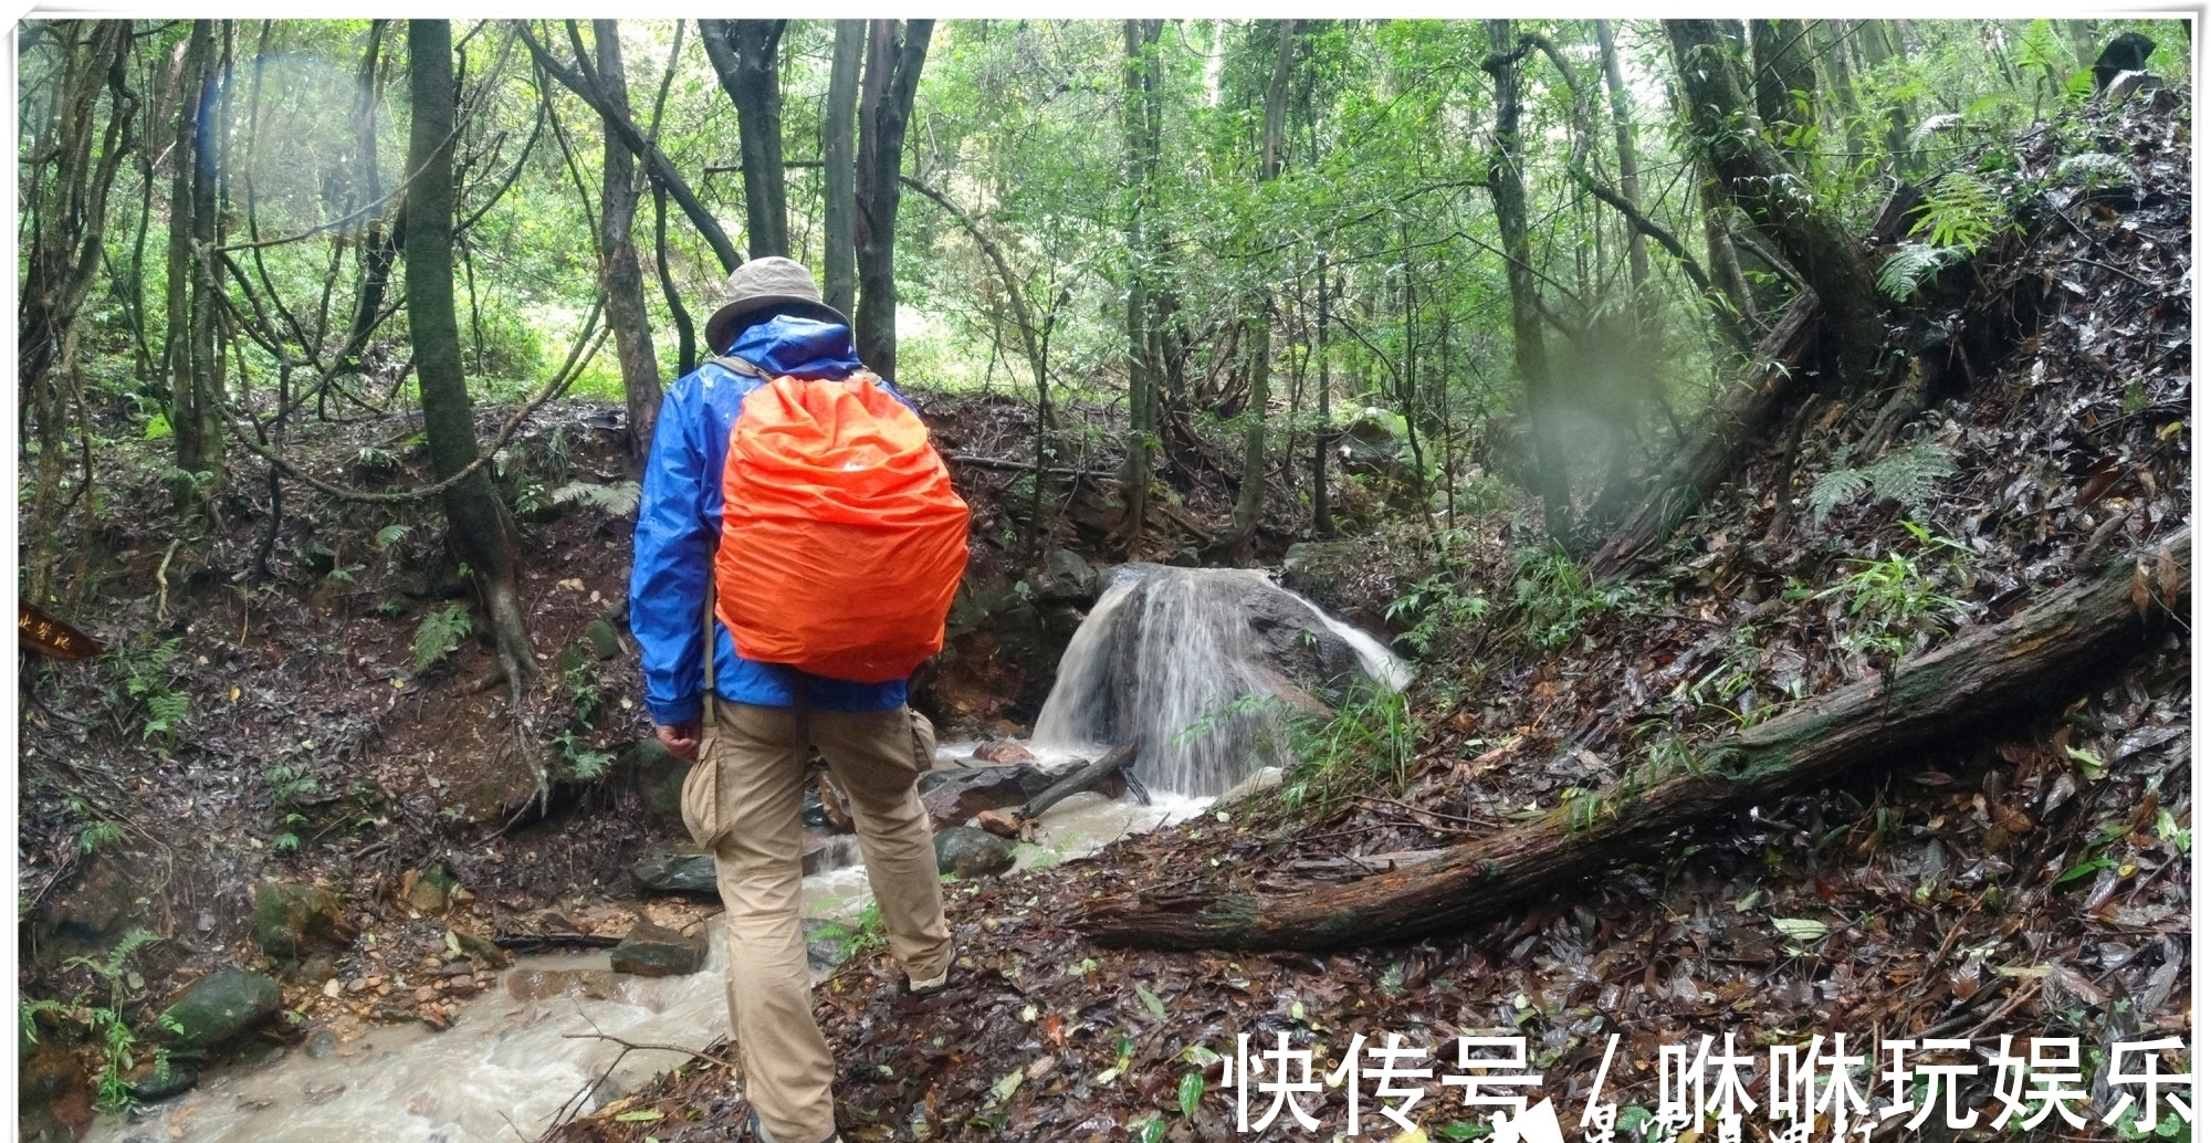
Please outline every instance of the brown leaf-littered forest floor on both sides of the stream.
[[[1656, 1105], [1658, 1044], [1705, 1032], [1736, 1032], [1753, 1055], [1813, 1032], [1848, 1032], [1853, 1048], [1875, 1035], [2072, 1035], [2092, 1046], [2182, 1035], [2184, 632], [2014, 734], [1868, 758], [1848, 780], [1702, 822], [1665, 862], [1563, 889], [1479, 933], [1331, 957], [1223, 957], [1099, 948], [1066, 920], [1108, 891], [1349, 878], [1355, 856], [1435, 849], [1543, 814], [1656, 743], [1696, 743], [1879, 672], [2182, 526], [2187, 133], [2184, 102], [2081, 124], [2065, 146], [2085, 139], [2127, 166], [2096, 190], [2058, 186], [2058, 133], [2030, 139], [2010, 177], [2052, 181], [2047, 210], [2001, 259], [1955, 268], [1963, 279], [1935, 314], [1948, 340], [1924, 358], [1943, 402], [1888, 453], [1939, 449], [1955, 464], [1926, 489], [1901, 489], [1926, 493], [1915, 506], [1864, 489], [1815, 520], [1813, 489], [1844, 466], [1835, 458], [1882, 405], [1815, 396], [1795, 451], [1760, 453], [1630, 579], [1585, 584], [1568, 564], [1521, 555], [1539, 553], [1528, 511], [1470, 522], [1455, 542], [1391, 526], [1302, 570], [1293, 586], [1344, 615], [1384, 615], [1435, 581], [1453, 599], [1488, 601], [1486, 623], [1435, 632], [1411, 694], [1424, 730], [1402, 780], [1311, 774], [1296, 811], [1258, 796], [1094, 858], [957, 884], [951, 990], [900, 997], [880, 953], [818, 990], [847, 1066], [847, 1136], [1220, 1139], [1234, 1114], [1209, 1061], [1238, 1032], [1267, 1046], [1287, 1032], [1316, 1050], [1316, 1074], [1335, 1068], [1353, 1035], [1404, 1032], [1446, 1070], [1450, 1037], [1521, 1035], [1530, 1068], [1550, 1077], [1545, 1092], [1574, 1110], [1612, 1032], [1623, 1039], [1605, 1099], [1630, 1108]], [[946, 400], [931, 413], [949, 453], [1028, 455], [1019, 402]], [[480, 433], [497, 420], [486, 409]], [[119, 411], [117, 424], [128, 427]], [[619, 630], [628, 524], [553, 495], [621, 480], [615, 424], [606, 405], [557, 402], [511, 444], [506, 480], [528, 491], [524, 597], [557, 679], [528, 716], [555, 765], [619, 756], [646, 730], [635, 650]], [[301, 427], [292, 447], [318, 473], [396, 486], [425, 469], [413, 436], [402, 420], [367, 420]], [[708, 911], [630, 887], [628, 864], [674, 836], [637, 783], [562, 780], [548, 811], [526, 809], [533, 774], [504, 732], [506, 688], [486, 648], [460, 639], [418, 665], [425, 619], [467, 595], [433, 513], [294, 504], [263, 577], [265, 489], [239, 489], [223, 526], [179, 535], [166, 491], [146, 478], [164, 451], [102, 451], [113, 469], [99, 484], [115, 493], [71, 537], [80, 570], [55, 601], [115, 654], [27, 670], [24, 997], [106, 995], [108, 982], [66, 957], [104, 955], [148, 929], [166, 940], [130, 962], [137, 984], [124, 1004], [142, 1028], [223, 964], [281, 973], [296, 1017], [276, 1021], [274, 1039], [347, 1037], [394, 1019], [438, 1026], [455, 984], [422, 995], [407, 975], [460, 957], [478, 968], [460, 993], [482, 988], [500, 953], [478, 940], [533, 926], [619, 935], [639, 917], [681, 924]], [[1081, 460], [1110, 469], [1106, 449]], [[975, 466], [962, 482], [988, 539], [977, 550], [1002, 564], [982, 577], [1019, 579], [1028, 522], [1013, 508], [1017, 473]], [[1190, 484], [1178, 513], [1198, 524], [1227, 515], [1218, 480]], [[1106, 559], [1097, 489], [1063, 504], [1055, 535]], [[1262, 553], [1291, 537], [1293, 524], [1278, 524]], [[1170, 520], [1132, 555], [1187, 555], [1198, 531]], [[1875, 623], [1868, 590], [1882, 577], [1917, 604]], [[590, 648], [601, 619], [615, 654], [570, 652]], [[971, 663], [964, 683], [940, 685], [957, 699], [951, 714], [1021, 721], [1048, 679], [997, 668]], [[979, 694], [982, 679], [995, 701]], [[159, 694], [188, 696], [175, 732], [148, 725]], [[566, 745], [553, 745], [562, 734]], [[420, 895], [440, 867], [460, 891]], [[336, 891], [354, 940], [303, 964], [263, 957], [252, 891], [270, 880]], [[449, 933], [467, 935], [462, 953]], [[49, 1030], [66, 1032], [51, 1017]], [[27, 1077], [46, 1077], [55, 1114], [82, 1121], [91, 1092], [62, 1057], [88, 1046], [46, 1039]], [[734, 1052], [710, 1055], [721, 1063], [670, 1074], [557, 1136], [734, 1139], [745, 1114]], [[1190, 1074], [1205, 1077], [1203, 1099], [1185, 1110]], [[1413, 1119], [1453, 1136], [1475, 1119], [1455, 1094], [1428, 1088]], [[1753, 1094], [1767, 1103], [1769, 1092]], [[2107, 1103], [2100, 1079], [2094, 1099]], [[1307, 1110], [1342, 1125], [1342, 1088]]]

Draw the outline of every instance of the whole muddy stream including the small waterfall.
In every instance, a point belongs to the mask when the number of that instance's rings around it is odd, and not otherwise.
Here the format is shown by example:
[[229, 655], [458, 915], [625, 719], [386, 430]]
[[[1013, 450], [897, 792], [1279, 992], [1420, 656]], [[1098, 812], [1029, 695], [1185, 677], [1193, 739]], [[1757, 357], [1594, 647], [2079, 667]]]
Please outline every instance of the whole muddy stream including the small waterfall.
[[[1300, 659], [1302, 657], [1302, 659]], [[1092, 853], [1187, 818], [1262, 765], [1287, 761], [1285, 701], [1318, 705], [1285, 668], [1364, 672], [1402, 688], [1408, 672], [1364, 632], [1260, 573], [1123, 568], [1075, 632], [1037, 721], [1044, 767], [1143, 738], [1134, 767], [1152, 803], [1077, 794], [1037, 822], [1019, 864]], [[944, 743], [937, 767], [975, 743]], [[851, 920], [869, 900], [858, 867], [805, 882], [805, 913]], [[471, 997], [451, 1030], [380, 1026], [338, 1044], [248, 1052], [190, 1092], [102, 1116], [91, 1143], [504, 1143], [535, 1141], [562, 1114], [604, 1105], [727, 1030], [723, 933], [688, 977], [632, 977], [608, 953], [533, 955]], [[668, 1048], [626, 1050], [617, 1041]], [[734, 1125], [732, 1125], [734, 1128]]]

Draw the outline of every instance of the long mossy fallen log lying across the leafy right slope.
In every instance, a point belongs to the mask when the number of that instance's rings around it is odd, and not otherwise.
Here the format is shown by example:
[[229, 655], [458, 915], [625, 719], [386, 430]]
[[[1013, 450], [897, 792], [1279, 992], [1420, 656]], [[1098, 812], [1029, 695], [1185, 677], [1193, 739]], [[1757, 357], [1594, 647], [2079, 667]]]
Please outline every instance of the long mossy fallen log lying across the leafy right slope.
[[[2065, 696], [2085, 672], [2140, 650], [2180, 612], [2189, 533], [2131, 568], [2047, 593], [1968, 628], [1888, 679], [1868, 679], [1696, 752], [1654, 785], [1614, 783], [1550, 816], [1389, 873], [1300, 893], [1176, 891], [1108, 895], [1070, 917], [1099, 944], [1148, 948], [1344, 948], [1464, 931], [1528, 898], [1647, 858], [1683, 827], [1963, 738]], [[2016, 723], [2012, 723], [2016, 725]]]

